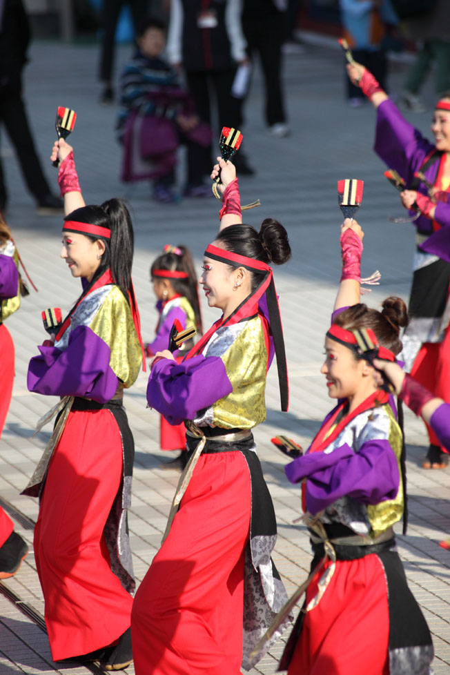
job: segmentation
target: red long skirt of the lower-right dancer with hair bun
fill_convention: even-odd
[[[306,604],[322,573],[306,591]],[[337,561],[319,604],[306,612],[288,675],[388,675],[388,644],[387,581],[380,558]]]

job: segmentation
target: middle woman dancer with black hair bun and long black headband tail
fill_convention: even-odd
[[[221,227],[199,283],[222,316],[182,363],[157,353],[148,380],[148,404],[171,424],[184,421],[190,459],[133,604],[137,675],[238,675],[286,600],[271,560],[275,513],[252,429],[266,418],[274,352],[287,409],[269,264],[286,262],[291,248],[277,221],[266,219],[259,232],[242,224],[235,168],[220,159],[213,178],[219,170]]]

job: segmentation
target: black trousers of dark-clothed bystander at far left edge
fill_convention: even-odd
[[[50,194],[50,186],[37,156],[20,88],[0,89],[0,122],[14,146],[26,186],[36,201],[40,202]],[[0,206],[4,207],[6,201],[5,177],[0,162]]]

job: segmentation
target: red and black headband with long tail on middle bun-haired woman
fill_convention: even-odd
[[[213,244],[207,246],[204,253],[206,257],[233,267],[244,267],[248,271],[264,275],[260,284],[258,284],[255,291],[249,295],[245,302],[239,306],[237,315],[234,315],[234,320],[246,316],[246,310],[249,306],[254,305],[260,300],[264,293],[266,294],[268,317],[271,326],[271,333],[273,337],[273,346],[275,347],[275,355],[277,357],[278,381],[280,382],[280,398],[282,411],[286,412],[289,404],[289,388],[288,388],[288,371],[286,365],[286,350],[284,348],[284,337],[282,322],[280,317],[280,307],[278,306],[277,292],[275,291],[275,282],[273,281],[272,268],[265,262],[254,260],[246,255],[239,255],[227,251],[224,248],[219,248]],[[226,322],[225,322],[226,323]]]

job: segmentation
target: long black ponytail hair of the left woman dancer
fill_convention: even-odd
[[[108,269],[113,281],[128,300],[131,288],[131,267],[133,265],[134,233],[130,213],[123,199],[108,199],[101,206],[81,206],[75,209],[64,220],[75,220],[81,223],[106,227],[111,231],[110,239],[102,239],[106,244],[99,268],[95,272],[88,288]],[[92,242],[101,237],[86,235]],[[88,290],[85,289],[85,293]]]

